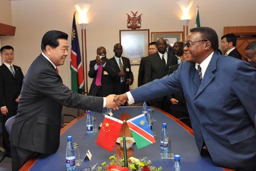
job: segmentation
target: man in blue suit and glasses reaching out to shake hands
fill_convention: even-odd
[[[182,89],[199,151],[207,149],[217,165],[255,170],[256,70],[247,62],[220,55],[218,46],[215,30],[191,29],[184,44],[186,61],[178,70],[114,101],[138,103]]]

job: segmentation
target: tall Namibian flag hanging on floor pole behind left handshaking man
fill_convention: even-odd
[[[71,41],[71,89],[74,92],[82,93],[84,91],[84,79],[83,79],[83,69],[82,61],[80,55],[80,47],[78,41],[78,34],[76,29],[76,19],[75,14],[73,17],[72,26],[72,41]]]

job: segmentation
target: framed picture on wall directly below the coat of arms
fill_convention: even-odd
[[[150,30],[120,30],[119,34],[122,56],[129,58],[131,65],[139,65],[141,58],[148,56]]]

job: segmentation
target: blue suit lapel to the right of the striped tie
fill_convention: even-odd
[[[213,72],[216,70],[217,60],[219,56],[218,53],[214,53],[212,56],[210,63],[205,71],[204,78],[199,86],[196,97],[210,84],[210,82],[215,78]]]

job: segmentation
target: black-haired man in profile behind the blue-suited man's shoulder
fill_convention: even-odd
[[[237,37],[232,33],[228,33],[221,37],[222,50],[226,52],[226,56],[231,56],[242,60],[241,54],[236,49]]]

